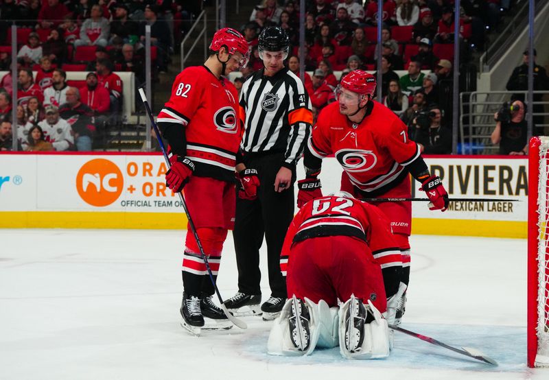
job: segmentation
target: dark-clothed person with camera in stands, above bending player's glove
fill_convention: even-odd
[[[452,131],[442,125],[442,112],[439,106],[432,104],[428,110],[416,112],[412,120],[415,127],[410,135],[423,154],[451,154]]]

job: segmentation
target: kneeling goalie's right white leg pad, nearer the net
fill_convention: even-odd
[[[366,323],[372,316],[373,320]],[[341,355],[347,359],[388,357],[388,324],[371,300],[368,300],[368,305],[362,305],[351,296],[342,305],[339,311],[339,346]]]

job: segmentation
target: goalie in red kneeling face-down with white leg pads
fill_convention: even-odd
[[[272,327],[269,353],[307,355],[317,343],[339,341],[344,357],[388,355],[381,313],[399,291],[402,263],[382,211],[343,191],[307,202],[290,224],[280,266],[288,301]],[[393,323],[395,311],[388,314]]]

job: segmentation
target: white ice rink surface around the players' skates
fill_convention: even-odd
[[[179,325],[185,232],[0,230],[0,379],[549,379],[526,367],[526,241],[412,236],[402,326],[471,346],[492,367],[396,333],[387,359],[266,354],[270,322]],[[261,285],[268,297],[265,257]],[[233,240],[218,286],[237,290]]]

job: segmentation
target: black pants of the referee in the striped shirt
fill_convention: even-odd
[[[238,268],[238,291],[244,294],[261,294],[261,272],[259,271],[259,248],[263,237],[267,242],[267,263],[271,296],[286,298],[286,282],[280,272],[280,252],[288,227],[294,217],[294,181],[289,189],[274,191],[283,154],[266,154],[246,159],[246,168],[256,169],[259,177],[257,199],[236,200],[235,241]]]

